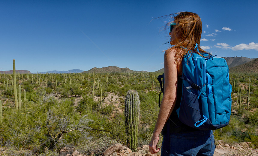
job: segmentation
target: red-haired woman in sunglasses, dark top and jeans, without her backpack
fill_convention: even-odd
[[[149,151],[157,153],[159,135],[164,135],[161,155],[213,155],[214,137],[212,131],[202,131],[179,121],[175,107],[180,105],[182,94],[182,58],[189,50],[202,56],[200,39],[202,22],[196,13],[181,12],[170,22],[170,44],[173,47],[164,55],[164,95],[157,123],[149,143]],[[198,44],[199,52],[194,49]]]

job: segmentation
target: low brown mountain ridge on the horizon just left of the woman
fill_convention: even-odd
[[[94,69],[96,73],[110,73],[110,72],[147,72],[147,71],[137,71],[137,70],[131,70],[129,68],[119,68],[116,66],[109,66],[109,67],[102,67],[102,68],[91,68],[88,71],[84,71],[82,73],[93,73]]]

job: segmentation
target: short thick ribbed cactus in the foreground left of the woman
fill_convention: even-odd
[[[125,131],[127,144],[132,151],[137,150],[140,116],[140,99],[136,90],[129,90],[125,98]]]

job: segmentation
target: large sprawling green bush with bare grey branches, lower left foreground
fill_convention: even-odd
[[[5,110],[5,124],[0,128],[2,145],[42,153],[46,148],[58,151],[69,142],[76,145],[78,140],[73,139],[76,136],[87,139],[92,120],[74,112],[71,101],[45,96],[38,103],[26,101],[26,106],[26,109]]]

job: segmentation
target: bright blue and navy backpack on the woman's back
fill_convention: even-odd
[[[194,49],[199,52],[197,44]],[[182,60],[182,98],[176,112],[179,120],[190,127],[214,130],[229,124],[232,88],[226,60],[209,53],[203,56],[188,51]],[[164,74],[158,80],[163,92],[162,77]]]

